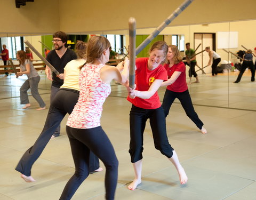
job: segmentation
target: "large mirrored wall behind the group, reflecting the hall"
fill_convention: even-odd
[[[256,83],[251,82],[251,70],[246,69],[241,81],[239,83],[234,83],[239,74],[239,68],[241,68],[242,65],[240,59],[236,57],[237,52],[247,51],[248,49],[251,49],[252,51],[254,50],[256,42],[253,38],[253,28],[255,26],[256,20],[167,27],[156,39],[163,39],[167,44],[178,45],[183,57],[185,57],[186,51],[185,44],[188,42],[190,43],[190,47],[198,53],[196,55],[196,73],[199,78],[199,83],[193,83],[196,81],[194,76],[191,77],[190,81],[188,76],[189,66],[186,66],[187,83],[194,105],[256,110]],[[137,46],[154,30],[155,28],[137,29]],[[126,57],[129,49],[129,36],[127,30],[79,33],[79,35],[87,35],[81,36],[81,38],[76,37],[75,34],[70,34],[70,41],[71,43],[75,43],[78,39],[84,40],[85,37],[88,39],[91,35],[96,34],[104,35],[109,39],[111,46],[113,46],[112,50],[117,53],[116,59]],[[5,43],[7,49],[9,48],[9,51],[10,49],[13,49],[13,53],[10,55],[13,58],[14,64],[18,64],[14,54],[20,50],[19,48],[22,48],[22,45],[15,45],[15,43],[19,43],[19,37],[27,39],[37,50],[40,50],[42,54],[46,47],[52,49],[52,44],[49,43],[51,39],[47,38],[52,37],[51,35],[26,36],[15,34],[13,36],[2,34],[1,46]],[[215,51],[221,57],[217,76],[212,76],[211,65],[207,66],[210,57],[209,53],[204,51],[206,46],[210,46],[210,49]],[[146,47],[138,57],[146,57],[148,49],[149,46]],[[35,54],[33,55],[33,63],[42,63]],[[255,63],[254,57],[253,63]],[[3,67],[2,60],[0,60],[0,65]],[[38,70],[38,74],[41,76],[39,91],[41,93],[49,92],[51,82],[45,77],[44,70]],[[18,97],[19,87],[26,78],[27,77],[25,76],[15,78],[13,73],[8,77],[4,77],[4,74],[1,74],[0,99]],[[113,95],[118,95],[120,97],[126,96],[126,91],[122,86],[113,84],[112,91]],[[164,88],[161,88],[158,91],[161,98],[163,98],[164,91]],[[179,101],[175,102],[179,103]]]

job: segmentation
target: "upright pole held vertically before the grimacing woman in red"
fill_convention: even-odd
[[[136,20],[135,18],[129,19],[129,60],[130,60],[130,69],[129,69],[129,86],[132,89],[135,85],[135,52],[136,52]]]

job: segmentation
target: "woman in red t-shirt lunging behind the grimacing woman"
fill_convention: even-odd
[[[164,68],[167,70],[169,79],[161,85],[167,86],[163,99],[165,116],[169,114],[173,101],[178,98],[187,116],[196,124],[203,134],[207,133],[206,129],[203,127],[204,123],[199,119],[193,107],[186,83],[186,67],[182,62],[177,46],[168,46],[166,58],[168,62],[164,64]]]

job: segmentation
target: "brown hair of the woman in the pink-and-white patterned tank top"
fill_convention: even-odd
[[[90,37],[87,44],[86,51],[86,62],[93,63],[95,59],[100,58],[103,51],[110,47],[110,43],[106,37],[103,36],[92,36]],[[82,66],[80,67],[80,69]]]

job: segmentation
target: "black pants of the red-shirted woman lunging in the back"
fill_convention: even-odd
[[[185,110],[187,116],[196,124],[198,129],[201,130],[204,123],[199,119],[198,115],[195,112],[188,90],[186,90],[185,92],[173,92],[170,90],[165,91],[163,99],[163,109],[165,116],[169,114],[172,103],[176,98],[180,100],[181,105]]]

